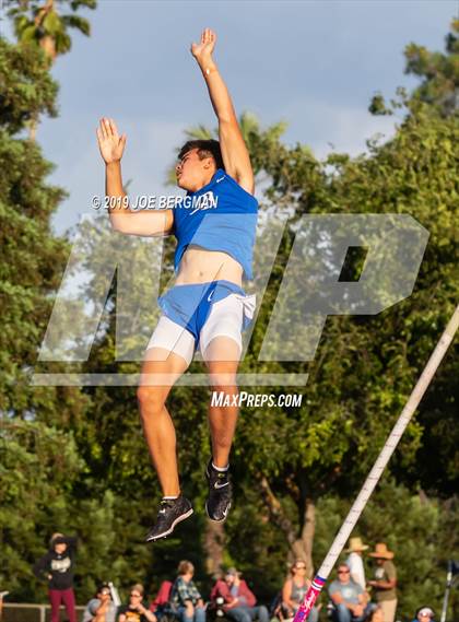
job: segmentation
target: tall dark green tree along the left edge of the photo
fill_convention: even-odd
[[[57,85],[42,55],[4,39],[0,82],[0,578],[30,597],[30,564],[56,530],[54,520],[69,512],[84,467],[68,429],[86,399],[75,389],[31,385],[68,246],[50,228],[64,191],[47,183],[52,165],[20,132],[35,114],[56,114]]]

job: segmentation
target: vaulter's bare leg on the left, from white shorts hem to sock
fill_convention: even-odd
[[[143,432],[164,496],[180,494],[175,429],[165,402],[175,382],[188,366],[189,362],[175,352],[150,348],[145,353],[138,389]],[[158,374],[165,375],[165,384],[149,384]]]

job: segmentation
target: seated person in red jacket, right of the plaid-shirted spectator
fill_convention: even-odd
[[[236,568],[228,568],[225,578],[219,579],[212,588],[211,600],[216,602],[221,597],[224,600],[222,607],[225,615],[236,622],[268,622],[268,609],[261,605],[256,607],[257,599],[244,579],[240,579]]]

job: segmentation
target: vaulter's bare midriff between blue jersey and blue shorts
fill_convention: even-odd
[[[195,244],[188,245],[180,260],[175,284],[208,283],[220,279],[242,286],[243,267],[227,253],[208,250]]]

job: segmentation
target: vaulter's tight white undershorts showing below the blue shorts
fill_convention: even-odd
[[[205,359],[205,349],[214,337],[229,337],[236,341],[240,352],[243,351],[243,320],[245,307],[255,308],[255,294],[242,296],[229,294],[223,300],[213,303],[208,319],[199,333],[199,350]],[[178,354],[189,365],[196,350],[196,340],[190,331],[176,324],[164,314],[160,317],[155,330],[149,341],[146,350],[151,348],[164,348]]]

